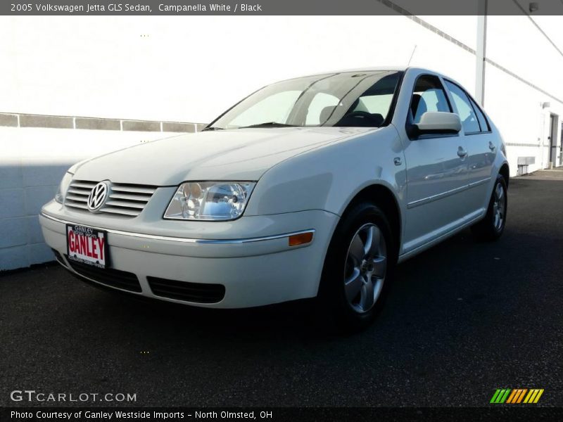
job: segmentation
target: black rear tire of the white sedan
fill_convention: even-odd
[[[502,198],[498,198],[498,190],[502,190]],[[500,206],[503,209],[500,210]],[[498,223],[498,212],[500,210],[500,224]],[[491,199],[488,203],[487,213],[485,217],[477,224],[472,226],[472,234],[477,241],[496,241],[502,232],[505,231],[506,217],[508,211],[508,188],[506,180],[501,174],[497,176]]]

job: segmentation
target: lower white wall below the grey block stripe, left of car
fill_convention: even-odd
[[[37,215],[70,165],[166,132],[0,127],[0,270],[53,260]]]

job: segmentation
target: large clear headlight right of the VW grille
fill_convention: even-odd
[[[191,181],[181,184],[164,218],[236,219],[242,215],[255,185],[251,181]]]

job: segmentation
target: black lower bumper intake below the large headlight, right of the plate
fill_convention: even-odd
[[[147,277],[146,279],[153,293],[163,298],[197,303],[216,303],[224,298],[222,284],[188,283],[157,277]]]

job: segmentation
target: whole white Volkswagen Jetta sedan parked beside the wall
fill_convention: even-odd
[[[419,68],[264,87],[197,134],[70,167],[39,216],[73,274],[201,307],[315,298],[361,328],[398,262],[505,227],[509,167],[460,84]]]

